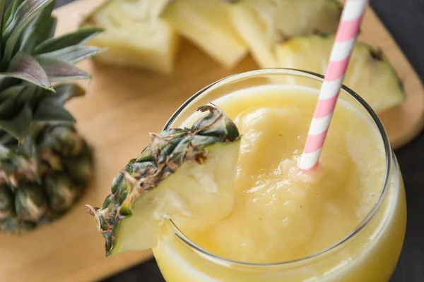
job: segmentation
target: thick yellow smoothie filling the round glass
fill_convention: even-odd
[[[299,171],[317,96],[306,87],[268,85],[213,102],[242,134],[235,204],[227,217],[200,233],[182,230],[203,251],[183,243],[172,223],[165,224],[153,251],[167,282],[389,280],[406,225],[396,161],[370,223],[317,255],[353,233],[372,212],[387,161],[375,124],[341,100],[318,168]],[[305,259],[309,256],[314,257]]]

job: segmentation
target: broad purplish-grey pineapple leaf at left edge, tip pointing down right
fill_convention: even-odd
[[[35,85],[54,91],[49,82],[49,78],[40,63],[32,56],[23,52],[18,52],[9,63],[6,73],[1,76],[9,76],[33,82]]]

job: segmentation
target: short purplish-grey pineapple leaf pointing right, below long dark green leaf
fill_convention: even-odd
[[[38,58],[38,62],[51,82],[90,78],[88,73],[66,61],[55,58]]]

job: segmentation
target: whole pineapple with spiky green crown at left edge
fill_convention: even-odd
[[[90,78],[74,63],[98,28],[54,38],[54,0],[0,0],[0,231],[23,233],[69,210],[91,174],[90,147],[64,104]],[[62,83],[61,83],[62,82]],[[54,83],[54,85],[52,85]]]

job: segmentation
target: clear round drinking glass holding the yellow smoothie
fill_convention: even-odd
[[[165,129],[181,125],[198,106],[225,94],[261,85],[300,85],[319,89],[323,77],[293,69],[263,69],[223,78],[204,87],[177,109]],[[172,220],[153,249],[167,282],[389,281],[399,259],[406,230],[406,199],[401,172],[377,114],[355,92],[343,86],[339,99],[360,111],[381,137],[385,178],[371,212],[346,238],[317,253],[272,264],[236,262],[202,249]],[[219,208],[219,207],[217,207]]]

